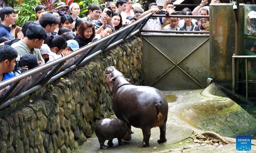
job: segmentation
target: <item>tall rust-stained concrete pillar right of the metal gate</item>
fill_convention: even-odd
[[[239,9],[238,55],[244,55],[244,4],[240,4]],[[232,56],[236,43],[235,11],[229,3],[221,3],[210,4],[210,13],[210,77],[232,87]]]

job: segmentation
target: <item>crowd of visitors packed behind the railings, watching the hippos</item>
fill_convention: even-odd
[[[221,0],[212,0],[211,3],[221,3]],[[202,0],[193,11],[184,8],[181,14],[209,15],[209,7],[204,7],[205,4],[207,0]],[[178,15],[172,0],[166,0],[162,10],[156,3],[151,3],[148,11],[144,11],[139,3],[132,4],[132,0],[108,2],[103,8],[90,4],[88,15],[84,18],[79,18],[77,3],[68,6],[60,2],[52,11],[38,5],[35,9],[36,21],[28,21],[21,28],[15,24],[16,15],[12,7],[0,9],[0,82],[76,51],[149,12]],[[209,25],[209,18],[197,21],[188,17],[152,17],[143,29],[209,31],[206,25]]]

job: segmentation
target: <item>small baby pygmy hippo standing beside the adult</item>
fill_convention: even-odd
[[[108,145],[113,146],[113,139],[117,138],[118,144],[122,145],[122,139],[129,141],[132,139],[131,131],[126,124],[117,118],[107,118],[100,120],[95,126],[95,134],[99,139],[100,148],[106,149],[104,142],[108,140]]]

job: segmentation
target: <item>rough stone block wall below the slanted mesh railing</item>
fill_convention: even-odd
[[[142,85],[142,42],[133,36],[75,71],[20,99],[0,119],[0,152],[67,153],[94,133],[102,118],[114,114],[104,70],[115,66]],[[3,111],[3,110],[1,110]]]

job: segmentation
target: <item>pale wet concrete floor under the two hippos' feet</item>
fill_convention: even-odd
[[[199,101],[203,97],[200,93],[203,90],[186,90],[186,91],[162,91],[165,95],[167,101],[169,102],[169,110],[172,109],[173,105],[180,104],[186,101]],[[170,111],[169,111],[170,112]],[[139,128],[132,127],[134,134],[132,134],[132,139],[124,144],[118,145],[117,139],[113,140],[114,146],[107,149],[100,149],[100,144],[95,133],[91,138],[87,139],[87,142],[84,142],[83,145],[79,146],[79,149],[76,149],[74,153],[233,153],[236,152],[236,144],[225,145],[222,147],[206,146],[202,147],[198,143],[192,143],[190,135],[193,133],[193,128],[184,126],[184,123],[176,122],[172,120],[171,114],[168,113],[168,120],[166,123],[166,139],[167,142],[157,143],[157,140],[160,136],[159,128],[151,129],[151,137],[149,140],[149,147],[140,148],[138,145],[142,143],[143,135],[142,131]],[[123,140],[124,141],[124,140]],[[105,145],[107,145],[105,142]],[[256,152],[256,147],[252,146],[250,152]],[[243,151],[241,151],[242,153]],[[244,153],[244,152],[243,152]]]

